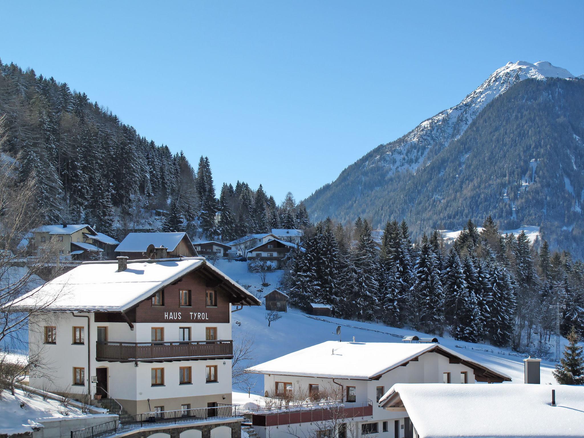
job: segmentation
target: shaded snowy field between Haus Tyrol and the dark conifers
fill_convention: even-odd
[[[228,263],[227,260],[218,260],[215,266],[223,270],[233,280],[244,284],[246,287],[251,286],[249,291],[252,293],[256,293],[261,288],[259,277],[256,274],[247,272],[245,262]],[[262,293],[259,293],[258,296],[277,288],[281,274],[281,271],[269,273],[267,281],[271,284],[269,287],[263,288]],[[325,340],[338,340],[339,336],[335,334],[337,325],[341,326],[342,340],[352,340],[354,336],[359,342],[401,343],[401,339],[404,336],[424,335],[424,333],[392,328],[382,324],[325,317],[314,319],[310,315],[291,308],[288,308],[287,313],[282,313],[282,318],[272,322],[272,325],[268,328],[265,314],[266,311],[263,306],[244,307],[243,310],[232,314],[234,323],[235,321],[241,322],[241,325],[233,324],[234,338],[248,334],[255,337],[255,351],[253,352],[255,363],[253,364],[262,363]],[[460,342],[450,337],[438,339],[442,345],[507,374],[512,378],[512,383],[523,383],[523,357],[509,356],[508,353],[511,350],[498,349],[491,345]],[[477,349],[488,349],[489,352]],[[499,354],[499,352],[504,354]],[[541,361],[542,384],[555,383],[551,373],[553,369],[553,363]],[[263,391],[261,378],[261,376],[258,376],[255,388],[252,390],[256,394],[260,394]],[[234,390],[237,391],[237,388],[234,388]],[[234,395],[234,397],[241,398],[241,395]]]

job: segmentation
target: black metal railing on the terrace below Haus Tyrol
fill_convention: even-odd
[[[200,422],[239,416],[238,405],[217,404],[213,408],[184,409],[180,411],[146,412],[85,429],[72,430],[71,438],[103,438],[128,432],[144,426]]]

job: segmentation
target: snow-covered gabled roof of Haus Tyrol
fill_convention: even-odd
[[[117,267],[117,260],[84,262],[18,298],[13,308],[124,311],[192,270],[203,267],[225,279],[224,284],[238,300],[261,304],[258,298],[201,257],[128,260],[126,270],[118,272]]]

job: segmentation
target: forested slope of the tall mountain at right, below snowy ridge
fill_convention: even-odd
[[[412,142],[439,114],[369,152],[304,201],[311,218],[405,218],[420,232],[492,215],[502,229],[541,225],[553,246],[582,255],[584,81],[537,79],[499,92],[458,137],[460,118]]]

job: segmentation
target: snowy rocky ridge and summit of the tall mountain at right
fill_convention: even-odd
[[[574,79],[574,76],[566,69],[555,67],[547,61],[535,64],[525,61],[508,62],[496,69],[458,105],[423,121],[405,137],[386,145],[385,150],[378,151],[379,154],[371,157],[364,165],[381,161],[390,168],[390,174],[405,169],[415,172],[422,162],[427,164],[431,161],[429,157],[426,159],[431,148],[437,148],[432,151],[432,156],[436,155],[450,141],[464,133],[487,103],[506,92],[512,85],[528,78]]]

